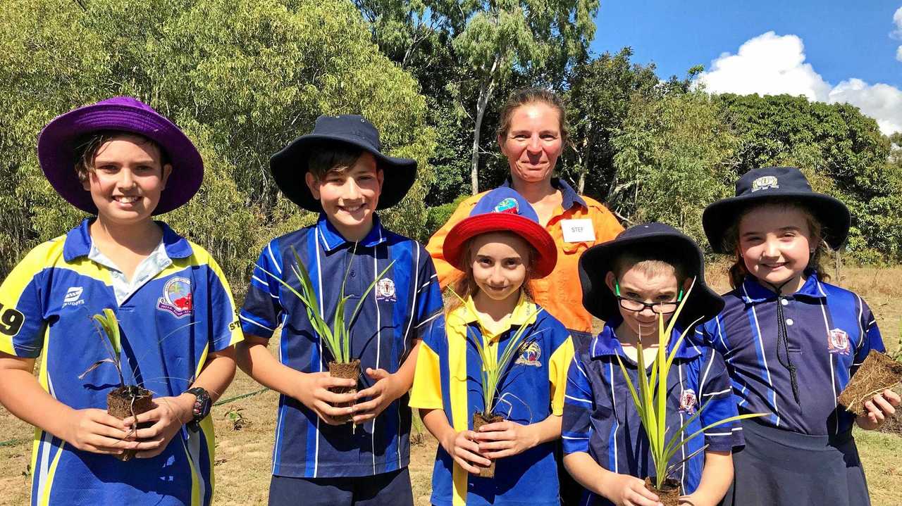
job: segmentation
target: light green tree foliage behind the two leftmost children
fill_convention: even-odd
[[[0,211],[10,267],[79,213],[41,176],[35,140],[55,115],[133,95],[177,122],[206,164],[200,193],[164,216],[233,279],[249,253],[312,218],[281,198],[268,159],[319,114],[363,113],[391,154],[417,158],[410,198],[384,220],[419,233],[434,131],[417,82],[373,47],[341,0],[62,0],[0,4]]]

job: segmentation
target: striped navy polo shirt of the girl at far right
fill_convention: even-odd
[[[698,329],[723,354],[741,412],[769,412],[756,419],[778,429],[828,436],[851,429],[855,416],[837,405],[871,349],[884,351],[877,321],[860,296],[818,281],[808,272],[795,294],[779,296],[746,276],[723,295],[723,312]],[[799,402],[792,392],[786,349],[778,351],[782,306],[788,352],[797,366]]]

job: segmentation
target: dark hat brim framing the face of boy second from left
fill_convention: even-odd
[[[318,143],[335,141],[350,144],[364,149],[376,159],[376,167],[382,168],[385,177],[382,180],[382,192],[376,209],[388,209],[399,203],[410,191],[417,179],[417,160],[412,158],[394,158],[383,155],[370,148],[363,141],[357,142],[344,136],[308,134],[292,140],[285,148],[270,158],[270,170],[276,185],[288,199],[300,207],[313,212],[322,212],[323,206],[313,197],[307,186],[305,177],[309,170],[308,159]],[[391,168],[391,172],[386,171]]]

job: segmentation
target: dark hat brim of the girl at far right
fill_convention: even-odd
[[[813,192],[769,192],[767,194],[746,194],[725,198],[709,204],[702,213],[704,235],[715,253],[733,253],[724,248],[726,231],[739,219],[741,212],[756,203],[769,200],[787,200],[796,202],[815,215],[824,227],[824,241],[833,249],[842,248],[849,236],[851,214],[839,199],[827,194]]]

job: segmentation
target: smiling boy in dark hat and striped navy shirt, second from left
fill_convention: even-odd
[[[312,133],[272,156],[270,167],[282,193],[319,217],[262,249],[240,313],[247,340],[239,366],[281,393],[269,503],[412,504],[407,392],[420,340],[442,331],[442,300],[426,250],[382,226],[376,211],[407,194],[417,163],[384,155],[371,122],[341,115],[320,116]],[[334,357],[306,306],[273,277],[301,290],[292,274],[295,253],[325,321],[334,321],[340,297],[352,297],[345,320],[350,357],[364,371],[359,392],[330,391],[358,380],[329,375]],[[266,345],[280,326],[276,359]]]

